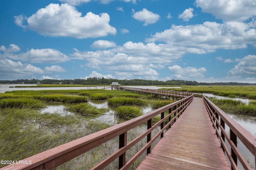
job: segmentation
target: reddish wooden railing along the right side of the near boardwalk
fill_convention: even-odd
[[[203,100],[208,114],[210,115],[210,119],[213,122],[214,129],[216,130],[216,135],[220,139],[222,149],[226,152],[228,159],[230,160],[232,169],[238,169],[238,158],[245,170],[251,170],[252,168],[237,148],[237,138],[240,139],[243,145],[254,155],[256,164],[256,137],[246,131],[246,129],[244,129],[236,121],[230,118],[226,113],[224,113],[224,111],[213,104],[208,98],[203,96]],[[229,136],[225,131],[225,125],[230,128]],[[231,153],[225,144],[225,140],[227,140],[231,147]]]

